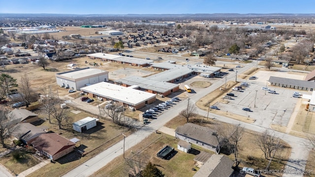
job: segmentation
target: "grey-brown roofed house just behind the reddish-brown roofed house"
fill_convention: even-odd
[[[48,127],[35,126],[31,123],[18,123],[13,129],[12,136],[21,140],[25,145],[30,145],[35,138],[46,133]]]

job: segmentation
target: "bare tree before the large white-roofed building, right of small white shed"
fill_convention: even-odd
[[[104,108],[103,109],[104,114],[111,118],[114,123],[121,125],[122,122],[125,123],[124,119],[124,107],[118,105],[118,104],[113,104],[111,107],[108,109]]]

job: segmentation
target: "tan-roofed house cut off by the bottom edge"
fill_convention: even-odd
[[[226,155],[213,154],[193,177],[230,177],[233,164]]]

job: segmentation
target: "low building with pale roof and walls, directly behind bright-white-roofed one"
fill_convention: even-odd
[[[138,86],[140,90],[147,91],[154,94],[162,94],[167,96],[172,92],[179,90],[178,84],[168,82],[156,81],[139,76],[130,76],[115,81],[116,84],[122,84],[124,87]]]

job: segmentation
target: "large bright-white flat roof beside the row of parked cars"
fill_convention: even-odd
[[[126,88],[107,82],[101,82],[91,86],[87,86],[81,88],[81,90],[133,106],[156,97],[156,95],[153,93]]]

